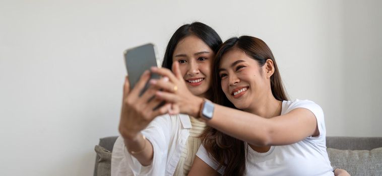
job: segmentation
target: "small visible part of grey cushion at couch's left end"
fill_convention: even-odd
[[[97,153],[95,166],[97,176],[109,176],[111,174],[111,152],[99,145],[96,145],[94,150]]]

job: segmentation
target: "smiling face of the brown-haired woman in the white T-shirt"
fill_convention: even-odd
[[[237,48],[225,53],[220,61],[221,87],[230,102],[241,110],[253,108],[257,101],[267,98],[270,80],[266,69]]]

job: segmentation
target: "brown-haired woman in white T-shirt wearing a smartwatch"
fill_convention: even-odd
[[[152,71],[170,79],[155,83],[164,90],[157,98],[209,126],[189,175],[334,175],[321,107],[288,101],[264,41],[241,36],[223,43],[212,69],[214,103],[190,94],[178,67],[173,64],[175,75]]]

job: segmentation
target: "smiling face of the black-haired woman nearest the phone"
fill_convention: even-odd
[[[214,51],[195,35],[180,40],[173,53],[173,62],[179,62],[179,69],[188,90],[196,96],[206,97],[210,89],[211,63]]]

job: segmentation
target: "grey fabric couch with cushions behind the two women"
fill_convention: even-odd
[[[110,175],[116,138],[101,138],[96,145],[94,176]],[[382,137],[327,137],[327,150],[332,165],[344,168],[351,175],[382,175]]]

